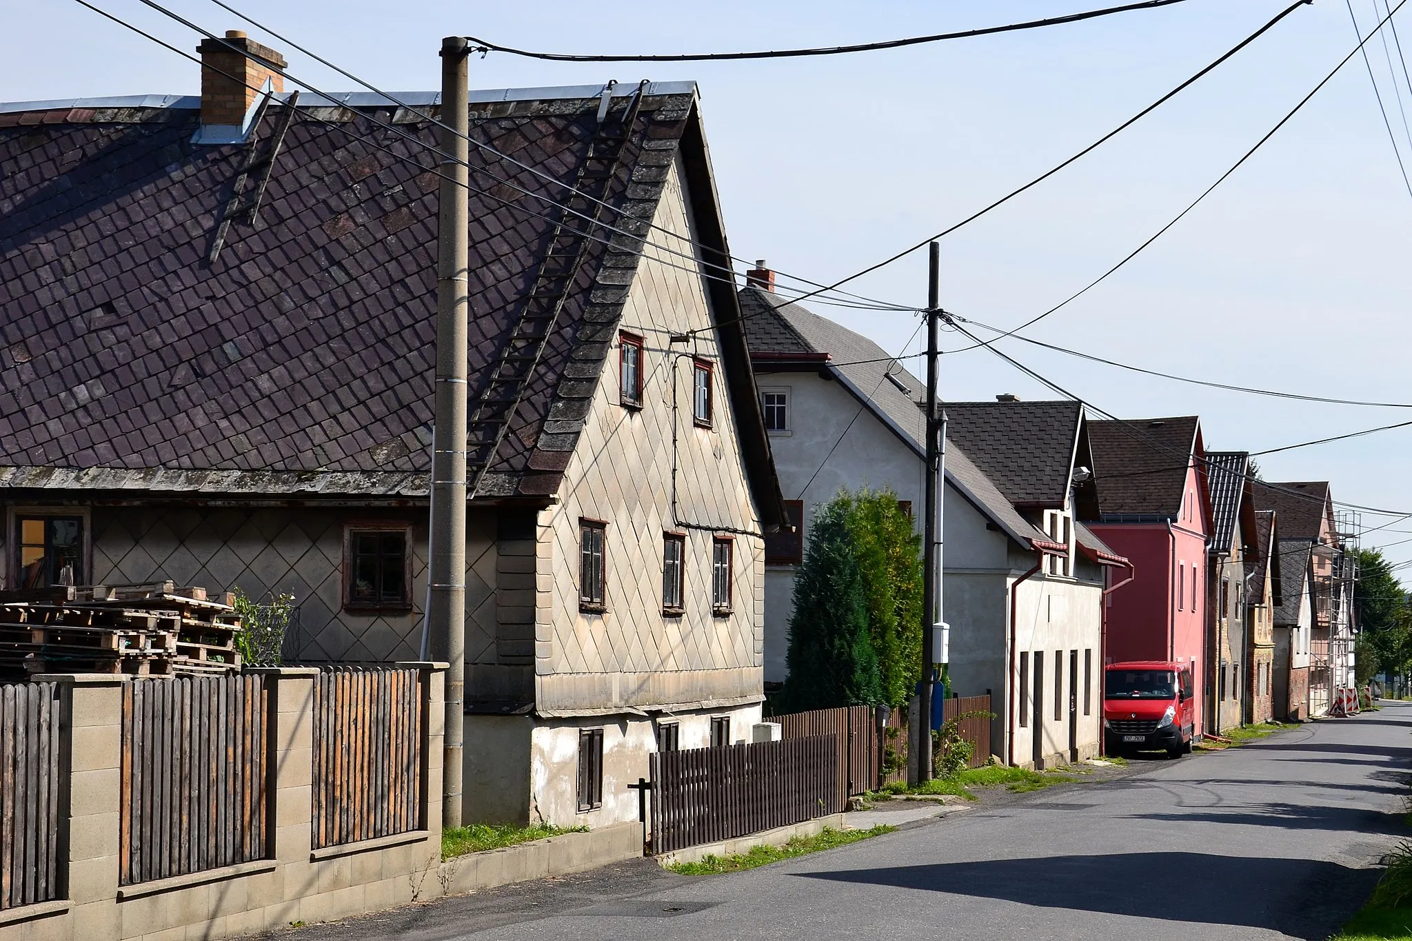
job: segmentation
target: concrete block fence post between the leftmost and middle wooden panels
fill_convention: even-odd
[[[68,786],[61,793],[61,870],[72,907],[72,937],[117,941],[119,852],[123,794],[123,686],[126,676],[42,673],[35,683],[62,688]],[[66,844],[68,849],[64,851]]]

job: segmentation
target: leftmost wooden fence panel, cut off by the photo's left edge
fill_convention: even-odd
[[[0,909],[59,897],[59,728],[54,683],[0,686]]]

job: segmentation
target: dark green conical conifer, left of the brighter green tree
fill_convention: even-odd
[[[809,525],[789,618],[789,679],[779,696],[786,711],[882,701],[849,511],[850,501],[840,495],[820,506]]]

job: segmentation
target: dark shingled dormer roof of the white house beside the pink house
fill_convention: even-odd
[[[964,447],[1011,502],[1066,504],[1082,402],[947,402],[946,419],[947,446]]]

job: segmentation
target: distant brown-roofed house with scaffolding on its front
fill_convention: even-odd
[[[1310,617],[1308,621],[1308,704],[1300,717],[1329,712],[1333,698],[1341,690],[1351,690],[1353,677],[1353,584],[1356,559],[1344,552],[1333,509],[1333,495],[1327,481],[1291,481],[1257,484],[1257,499],[1262,508],[1274,509],[1279,519],[1281,552],[1289,552],[1292,564],[1306,563]],[[1288,545],[1286,545],[1288,543]],[[1302,547],[1308,547],[1305,553]],[[1308,557],[1306,557],[1308,556]],[[1296,577],[1289,570],[1285,588],[1292,591]],[[1305,593],[1300,593],[1305,594]],[[1291,598],[1291,605],[1295,600]],[[1302,604],[1302,601],[1300,601]],[[1305,624],[1299,608],[1289,607],[1284,624],[1298,631]],[[1281,622],[1276,621],[1276,626]],[[1295,641],[1303,638],[1292,638]],[[1292,660],[1291,672],[1299,669]],[[1289,681],[1291,696],[1298,696],[1302,677]],[[1295,710],[1291,701],[1291,710]]]

